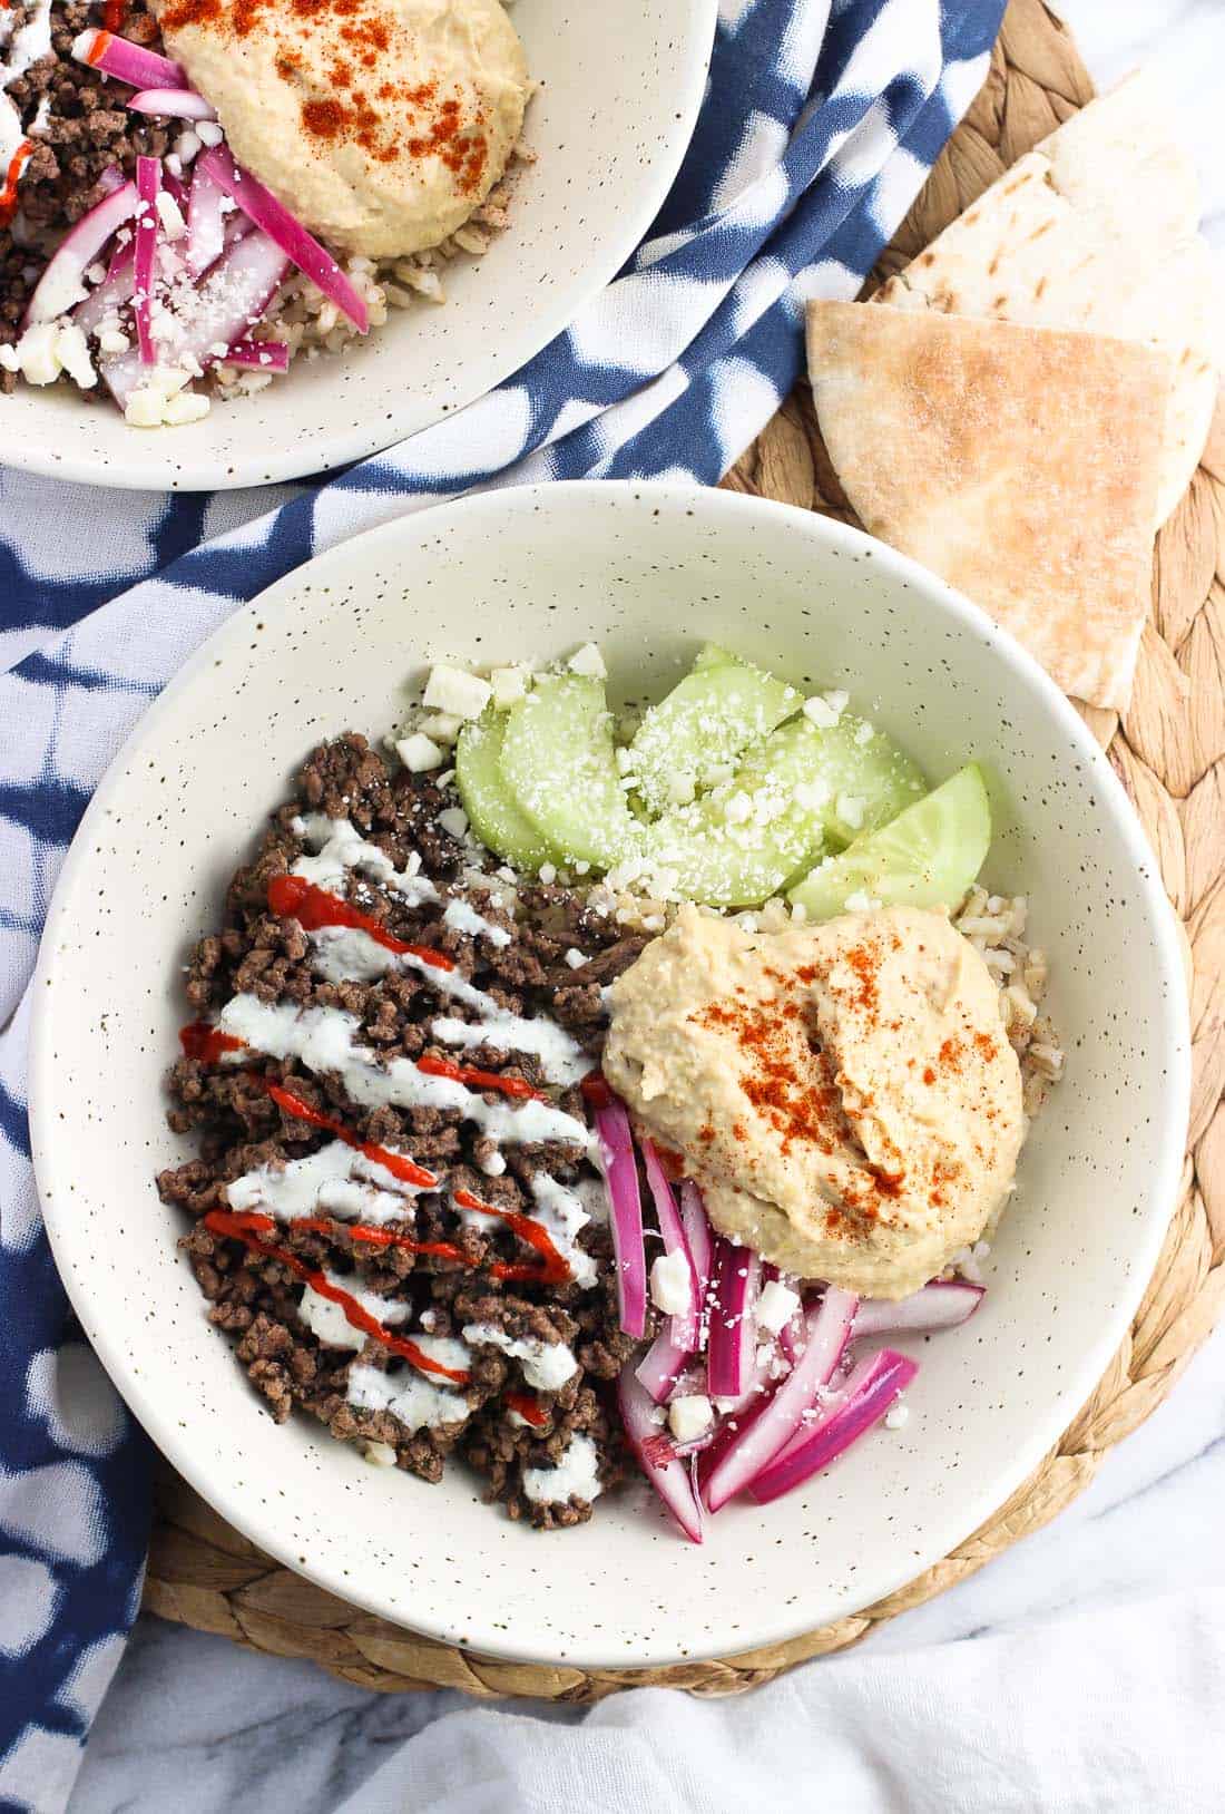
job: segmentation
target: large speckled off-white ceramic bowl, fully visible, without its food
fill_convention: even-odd
[[[614,693],[661,693],[716,637],[844,686],[931,776],[977,756],[986,880],[1033,900],[1067,1078],[964,1330],[919,1342],[912,1417],[703,1547],[641,1484],[542,1536],[274,1429],[176,1255],[152,1174],[185,1019],[179,965],[315,738],[381,733],[433,657],[551,658],[585,639]],[[790,1638],[899,1587],[988,1517],[1109,1362],[1165,1232],[1187,1123],[1172,914],[1107,762],[1051,682],[946,586],[854,530],[672,486],[500,492],[335,548],[239,611],[140,724],[85,816],[43,941],[33,1132],[87,1335],[170,1460],[257,1544],[346,1600],[477,1651],[663,1663]]]

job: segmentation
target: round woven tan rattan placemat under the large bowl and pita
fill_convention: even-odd
[[[1091,98],[1067,31],[1040,0],[1011,0],[991,74],[881,261],[908,263],[1022,152]],[[854,521],[799,386],[725,484]],[[1183,1186],[1129,1337],[1062,1440],[993,1518],[888,1600],[790,1643],[670,1669],[549,1669],[449,1649],[359,1613],[239,1536],[163,1471],[145,1605],[248,1649],[308,1656],[370,1689],[598,1700],[667,1683],[727,1694],[839,1651],[930,1600],[1038,1529],[1084,1491],[1104,1455],[1162,1402],[1216,1321],[1225,1290],[1225,408],[1187,497],[1162,530],[1153,619],[1131,709],[1085,711],[1158,854],[1185,925],[1194,1090]]]

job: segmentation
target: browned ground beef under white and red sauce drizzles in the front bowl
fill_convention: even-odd
[[[440,1014],[471,1021],[477,1010],[440,996],[428,974],[395,967],[370,981],[328,981],[317,974],[315,947],[297,920],[268,909],[268,883],[308,849],[304,816],[344,818],[397,871],[410,869],[417,853],[440,900],[413,905],[402,892],[355,871],[346,873],[335,892],[342,889],[352,907],[397,940],[446,954],[460,976],[500,1007],[527,1018],[551,1014],[596,1048],[600,989],[634,960],[643,941],[622,936],[620,927],[591,914],[565,889],[522,889],[515,898],[491,869],[495,860],[466,849],[440,824],[439,814],[455,804],[428,776],[391,771],[362,736],[341,736],[315,749],[303,766],[295,796],[274,813],[252,862],[234,874],[221,927],[192,951],[185,978],[190,1016],[207,1021],[239,992],[266,1003],[342,1009],[361,1023],[361,1043],[382,1059],[458,1056],[466,1065],[544,1090],[556,1107],[585,1121],[582,1090],[545,1085],[536,1058],[498,1048],[493,1039],[460,1054],[439,1041],[431,1023]],[[484,873],[475,871],[482,860]],[[444,911],[453,898],[473,905],[509,941],[495,943],[484,932],[471,936],[448,925]],[[576,949],[587,960],[582,969],[567,961]],[[446,1188],[426,1190],[404,1221],[388,1226],[411,1235],[413,1244],[444,1244],[448,1252],[371,1244],[337,1219],[321,1228],[283,1223],[266,1232],[261,1239],[279,1257],[214,1232],[205,1217],[228,1208],[227,1186],[234,1179],[261,1166],[281,1168],[335,1137],[279,1108],[268,1094],[270,1083],[285,1085],[308,1110],[339,1121],[352,1139],[410,1152],[417,1163],[446,1174]],[[487,1092],[486,1099],[507,1097]],[[582,1500],[529,1500],[522,1475],[524,1468],[556,1466],[576,1433],[596,1444],[603,1484],[611,1486],[622,1471],[612,1386],[632,1344],[618,1328],[607,1226],[593,1217],[578,1237],[594,1261],[593,1284],[580,1286],[574,1279],[544,1284],[498,1272],[522,1270],[533,1261],[506,1221],[464,1219],[451,1201],[453,1192],[468,1190],[502,1212],[535,1214],[533,1179],[544,1170],[565,1186],[585,1181],[591,1190],[598,1174],[585,1141],[507,1143],[506,1170],[491,1175],[486,1166],[495,1143],[464,1121],[458,1108],[361,1105],[346,1096],[341,1076],[317,1076],[297,1061],[259,1054],[241,1065],[179,1058],[170,1072],[170,1125],[194,1136],[198,1156],[163,1172],[158,1186],[165,1203],[194,1217],[181,1244],[208,1301],[208,1317],[236,1339],[236,1355],[275,1422],[297,1408],[344,1442],[386,1444],[386,1451],[375,1453],[393,1451],[397,1466],[424,1480],[439,1480],[446,1457],[458,1451],[484,1477],[487,1497],[504,1502],[515,1518],[560,1527],[591,1517]],[[364,1293],[408,1304],[406,1319],[390,1324],[395,1335],[460,1337],[469,1322],[491,1324],[509,1341],[565,1342],[576,1371],[560,1390],[536,1391],[526,1386],[518,1359],[497,1344],[475,1346],[462,1386],[433,1380],[462,1393],[466,1417],[410,1429],[391,1411],[352,1404],[348,1377],[355,1362],[399,1375],[411,1370],[411,1360],[377,1337],[353,1353],[312,1333],[299,1312],[303,1268],[326,1272],[342,1286],[352,1279]],[[522,1420],[524,1404],[538,1422]]]

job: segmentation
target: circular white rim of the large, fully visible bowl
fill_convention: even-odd
[[[415,539],[422,533],[429,533],[433,537],[437,535],[439,526],[446,528],[457,519],[468,519],[468,530],[480,533],[482,519],[497,519],[507,510],[524,512],[527,515],[535,513],[536,522],[540,522],[542,517],[547,515],[549,506],[560,508],[562,515],[565,515],[567,499],[576,495],[598,499],[612,510],[620,508],[620,504],[629,497],[641,502],[643,499],[654,501],[667,495],[672,502],[683,506],[690,515],[707,513],[709,522],[738,515],[763,519],[767,524],[774,524],[779,533],[790,533],[794,530],[806,535],[814,544],[825,544],[825,548],[839,553],[859,557],[866,555],[877,568],[883,568],[899,580],[906,582],[913,593],[917,610],[930,610],[935,606],[937,611],[944,611],[946,617],[960,629],[971,629],[980,640],[986,640],[991,655],[1000,660],[1004,671],[1017,673],[1024,682],[1037,689],[1040,704],[1053,715],[1056,727],[1064,731],[1069,742],[1069,756],[1076,756],[1093,773],[1100,785],[1102,804],[1109,811],[1122,836],[1127,860],[1153,925],[1153,961],[1158,965],[1167,985],[1165,1000],[1169,1003],[1174,1027],[1169,1048],[1163,1054],[1167,1083],[1163,1097],[1160,1099],[1160,1130],[1154,1136],[1160,1157],[1151,1166],[1151,1186],[1147,1192],[1151,1208],[1142,1219],[1134,1244],[1129,1250],[1129,1264],[1125,1277],[1120,1277],[1118,1281],[1113,1313],[1104,1319],[1102,1328],[1085,1350],[1080,1364],[1076,1368],[1069,1368],[1060,1391],[1051,1397],[1044,1413],[1035,1417],[1027,1439],[1017,1444],[1009,1466],[1006,1469],[998,1469],[986,1486],[959,1497],[953,1509],[933,1517],[928,1526],[928,1536],[919,1549],[910,1549],[902,1556],[901,1549],[904,1546],[899,1546],[899,1565],[892,1575],[881,1571],[872,1589],[864,1593],[863,1598],[852,1596],[850,1602],[839,1604],[835,1616],[854,1616],[854,1613],[863,1611],[864,1605],[873,1604],[875,1600],[884,1598],[922,1576],[928,1569],[944,1560],[975,1529],[979,1529],[979,1526],[984,1524],[995,1511],[998,1511],[998,1507],[1006,1504],[1017,1487],[1022,1486],[1033,1473],[1049,1448],[1058,1442],[1062,1433],[1085,1404],[1102,1379],[1102,1373],[1109,1366],[1122,1335],[1131,1326],[1140,1301],[1149,1288],[1162,1243],[1178,1203],[1178,1181],[1183,1170],[1185,1136],[1191,1114],[1191,1005],[1185,983],[1183,949],[1174,909],[1165,894],[1165,889],[1162,887],[1156,858],[1145,840],[1140,820],[1136,818],[1125,789],[1114,775],[1107,756],[1098,747],[1071,702],[1064,697],[1064,693],[1060,693],[1038,662],[1026,649],[1022,649],[1011,635],[993,624],[986,611],[975,606],[969,599],[948,586],[928,568],[922,568],[908,555],[888,548],[884,542],[875,541],[859,528],[830,517],[821,517],[815,512],[801,510],[794,504],[783,504],[772,499],[759,499],[736,492],[723,492],[718,488],[683,484],[678,481],[647,483],[585,479],[531,486],[506,486],[493,492],[460,497],[431,506],[428,512],[417,512],[410,517],[397,517],[391,522],[379,524],[377,528],[366,530],[359,537],[337,542],[333,548],[297,568],[294,573],[275,580],[250,604],[234,611],[225,624],[208,635],[208,639],[167,684],[149,711],[145,711],[136,722],[123,746],[111,760],[63,860],[40,945],[33,981],[33,989],[36,992],[34,1000],[38,1000],[38,992],[47,981],[47,954],[58,941],[60,920],[69,914],[71,896],[76,889],[78,874],[87,867],[91,845],[94,842],[94,827],[109,814],[112,798],[118,795],[123,771],[127,769],[132,753],[149,735],[149,727],[158,726],[163,713],[174,713],[179,691],[190,688],[196,675],[212,664],[214,648],[227,637],[237,637],[243,633],[241,626],[245,624],[246,613],[266,613],[268,610],[275,610],[281,595],[294,593],[304,584],[310,586],[321,575],[321,570],[326,570],[328,562],[352,557],[352,550],[359,542],[362,546],[393,548],[400,537]],[[315,591],[319,593],[321,588],[315,586]],[[406,669],[410,666],[411,651],[406,651]],[[776,1616],[770,1624],[767,1622],[767,1609],[763,1611],[761,1627],[754,1627],[747,1633],[741,1620],[736,1638],[730,1643],[719,1643],[712,1638],[701,1651],[689,1647],[681,1654],[680,1651],[661,1647],[656,1642],[641,1645],[632,1653],[627,1653],[625,1649],[612,1653],[600,1642],[582,1643],[574,1640],[567,1643],[565,1656],[562,1658],[524,1649],[515,1643],[513,1634],[502,1631],[482,1631],[477,1636],[473,1634],[471,1618],[464,1625],[448,1625],[442,1616],[422,1618],[419,1624],[410,1624],[402,1614],[391,1611],[388,1604],[381,1600],[377,1591],[362,1591],[362,1585],[353,1576],[344,1575],[339,1565],[333,1567],[326,1560],[315,1562],[312,1556],[303,1558],[301,1542],[279,1531],[275,1518],[265,1515],[261,1507],[254,1504],[254,1498],[245,1498],[239,1491],[214,1486],[203,1466],[196,1464],[192,1457],[190,1431],[181,1426],[174,1413],[163,1413],[158,1409],[156,1402],[150,1402],[143,1377],[125,1360],[118,1331],[111,1335],[105,1322],[98,1322],[98,1317],[94,1315],[92,1293],[71,1261],[71,1219],[62,1208],[62,1204],[71,1201],[71,1192],[56,1192],[53,1188],[43,1190],[43,1179],[51,1185],[53,1166],[56,1163],[56,1112],[53,1107],[56,1067],[53,1061],[51,1029],[47,1021],[49,1016],[33,1016],[29,1052],[31,1148],[43,1210],[43,1224],[47,1228],[56,1266],[65,1282],[67,1295],[105,1371],[156,1448],[170,1460],[170,1464],[199,1493],[199,1497],[223,1518],[227,1518],[227,1522],[230,1522],[241,1535],[250,1538],[295,1575],[303,1575],[306,1580],[315,1582],[353,1607],[373,1613],[393,1625],[400,1625],[402,1629],[417,1631],[419,1634],[433,1638],[439,1643],[471,1649],[477,1654],[504,1658],[509,1662],[564,1663],[565,1667],[587,1669],[665,1667],[669,1663],[696,1662],[703,1656],[718,1658],[721,1654],[730,1654],[732,1651],[739,1653],[745,1649],[786,1643],[821,1624],[821,1620],[805,1616],[797,1609],[790,1611],[783,1618]],[[47,1206],[49,1203],[51,1208]]]

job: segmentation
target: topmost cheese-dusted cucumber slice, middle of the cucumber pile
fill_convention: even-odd
[[[796,688],[707,642],[692,673],[645,713],[629,773],[647,813],[667,813],[727,780],[739,753],[799,711]]]

